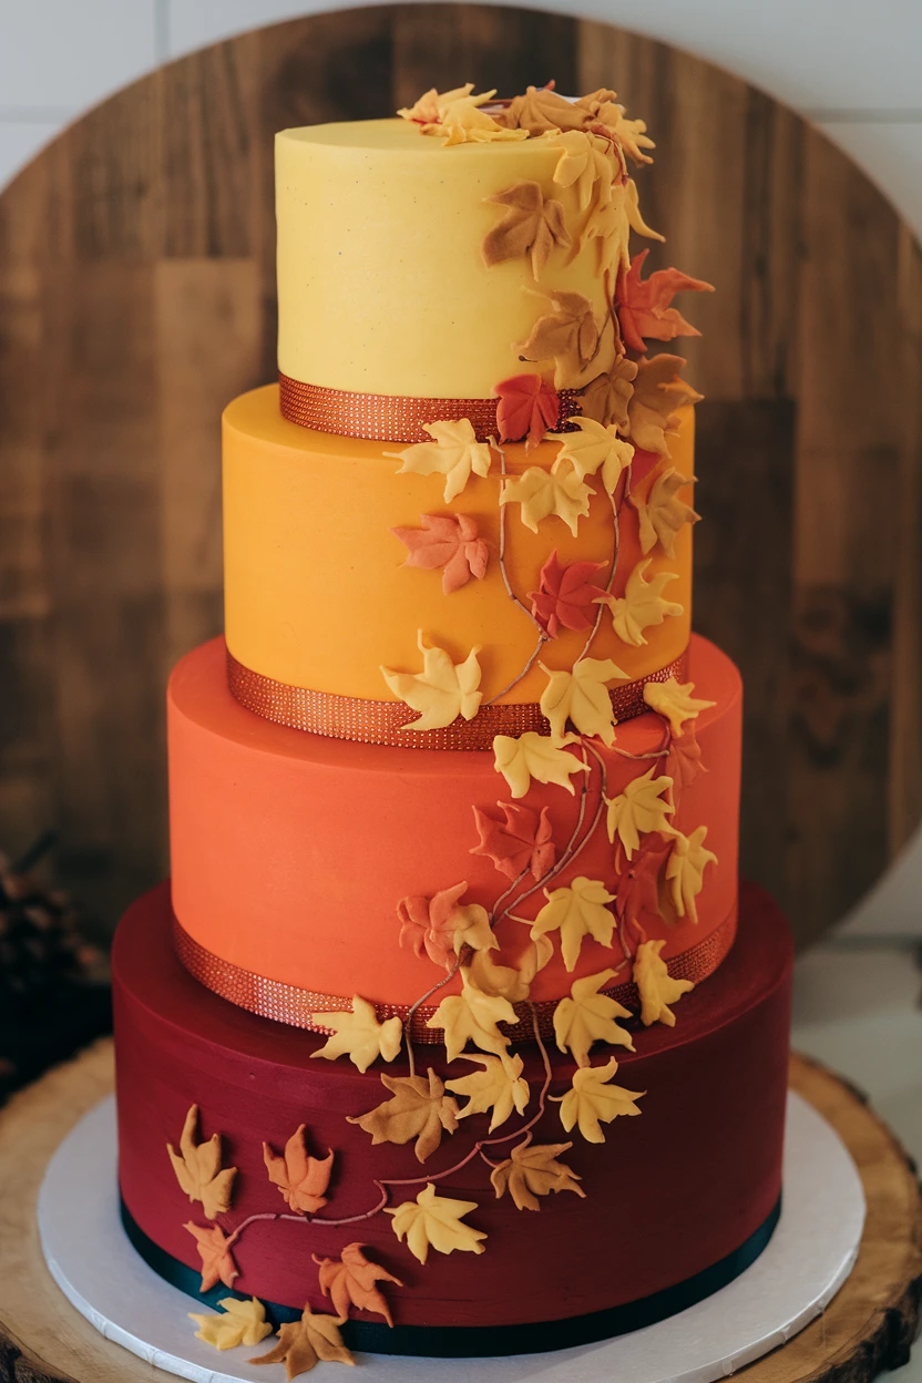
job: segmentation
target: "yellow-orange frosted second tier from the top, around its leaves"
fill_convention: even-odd
[[[535,467],[549,472],[560,449],[560,441],[543,441],[531,451],[516,443],[503,449],[505,465],[513,477]],[[281,685],[397,707],[401,697],[382,668],[417,672],[420,639],[444,649],[455,664],[477,650],[481,714],[493,700],[495,709],[538,703],[547,685],[540,664],[570,669],[586,653],[611,658],[623,674],[610,679],[615,696],[625,683],[673,668],[688,646],[691,626],[693,526],[681,524],[668,544],[670,552],[652,544],[651,530],[644,545],[639,508],[666,470],[691,477],[693,461],[694,411],[684,407],[669,458],[637,451],[630,487],[621,483],[614,505],[601,477],[590,477],[587,513],[575,534],[556,514],[535,523],[532,531],[520,503],[500,508],[503,461],[495,449],[488,474],[471,474],[446,503],[445,474],[398,474],[401,461],[393,444],[317,433],[283,419],[276,386],[235,398],[224,415],[227,643],[238,678],[246,682],[245,669],[270,687],[261,703],[247,701],[246,694],[243,703],[279,718],[272,709],[272,685]],[[688,483],[677,499],[691,503],[691,491]],[[458,557],[464,584],[448,592],[446,567],[406,564],[417,537],[434,531],[441,541],[440,528],[427,530],[433,519],[449,527],[470,524],[462,544],[470,564],[464,550]],[[617,633],[612,613],[592,603],[605,589],[615,544],[614,599],[625,596],[632,577],[634,585],[643,581],[652,589],[659,575],[669,574],[659,586],[668,603],[657,610],[659,622],[644,625],[630,642]],[[540,628],[529,614],[532,593],[540,588],[552,552],[564,566],[597,564],[585,571],[593,591],[576,614],[578,628],[556,628],[531,671],[506,692],[535,653]],[[586,649],[599,611],[599,629]],[[409,709],[402,716],[415,718]],[[301,719],[289,723],[323,729]]]

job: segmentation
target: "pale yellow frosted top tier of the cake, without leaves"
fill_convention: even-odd
[[[576,184],[554,183],[561,154],[558,137],[445,148],[399,119],[282,130],[282,373],[355,393],[489,398],[510,375],[538,372],[517,346],[549,292],[582,293],[605,314],[597,241],[575,248]],[[488,268],[481,252],[503,216],[488,199],[523,181],[574,227],[574,248],[552,249],[539,284],[527,254]]]

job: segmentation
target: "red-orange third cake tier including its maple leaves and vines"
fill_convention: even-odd
[[[445,981],[433,964],[438,939],[430,947],[427,934],[424,945],[419,927],[420,909],[435,918],[440,895],[448,910],[477,904],[495,920],[488,965],[543,965],[531,983],[539,1005],[603,971],[604,989],[629,985],[623,950],[641,939],[664,940],[673,976],[701,979],[726,954],[741,683],[706,640],[690,649],[704,708],[680,736],[648,712],[618,725],[611,748],[545,740],[546,776],[557,777],[545,783],[540,766],[523,780],[513,765],[507,779],[489,752],[347,744],[274,725],[234,700],[224,660],[216,639],[178,664],[169,748],[177,942],[225,997],[304,1026],[354,994],[411,1005]],[[639,867],[659,880],[652,896],[632,875]],[[560,931],[549,920],[547,958],[535,920],[561,899],[575,914]],[[474,946],[477,916],[473,907],[463,921]],[[455,975],[433,1003],[459,987]]]

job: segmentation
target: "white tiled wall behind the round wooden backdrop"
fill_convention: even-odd
[[[69,120],[156,64],[246,29],[344,7],[339,0],[0,0],[0,187]],[[527,7],[621,24],[763,87],[840,144],[922,236],[922,0],[528,0]],[[922,934],[921,898],[922,833],[846,929]]]

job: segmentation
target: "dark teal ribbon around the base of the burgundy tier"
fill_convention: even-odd
[[[133,1246],[149,1268],[170,1286],[178,1288],[187,1296],[195,1297],[202,1306],[218,1308],[225,1297],[249,1300],[243,1293],[223,1285],[210,1292],[199,1292],[200,1275],[180,1263],[148,1238],[133,1218],[131,1212],[119,1200],[122,1224]],[[379,1325],[375,1321],[347,1321],[343,1326],[343,1340],[352,1350],[369,1354],[412,1354],[433,1358],[476,1358],[505,1354],[545,1354],[550,1350],[567,1350],[578,1344],[593,1344],[610,1340],[617,1335],[629,1335],[647,1325],[657,1325],[670,1315],[687,1311],[705,1297],[713,1296],[722,1288],[752,1267],[767,1246],[781,1217],[781,1196],[759,1228],[728,1253],[726,1259],[713,1263],[702,1272],[676,1282],[673,1286],[654,1292],[639,1301],[626,1301],[607,1311],[592,1311],[589,1315],[572,1315],[563,1321],[531,1321],[525,1325]],[[286,1321],[300,1319],[301,1312],[274,1301],[264,1301],[267,1318],[275,1328]]]

